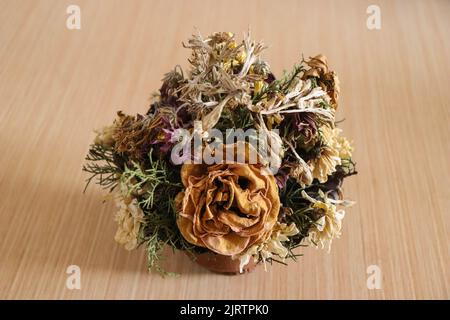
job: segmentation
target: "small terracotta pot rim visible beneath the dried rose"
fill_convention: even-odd
[[[238,275],[252,271],[256,267],[253,259],[244,267],[243,273],[239,272],[239,260],[233,260],[230,256],[223,256],[212,252],[201,253],[194,259],[196,263],[215,273]]]

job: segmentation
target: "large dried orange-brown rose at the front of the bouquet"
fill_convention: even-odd
[[[186,189],[175,205],[178,228],[188,242],[233,256],[271,235],[280,210],[278,187],[264,166],[248,164],[245,146],[243,163],[183,165]],[[226,149],[238,150],[236,144]]]

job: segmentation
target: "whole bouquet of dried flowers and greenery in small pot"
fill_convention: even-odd
[[[163,274],[166,246],[232,274],[296,260],[300,246],[329,250],[352,204],[343,179],[356,171],[325,56],[277,78],[249,35],[183,45],[187,74],[167,73],[145,113],[119,111],[86,156],[87,185],[117,203],[115,240],[144,247]]]

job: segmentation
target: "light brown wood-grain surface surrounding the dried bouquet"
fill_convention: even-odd
[[[66,8],[81,8],[81,30]],[[366,28],[370,4],[381,30]],[[449,1],[0,1],[0,298],[450,298]],[[338,72],[338,118],[354,140],[357,201],[330,254],[246,276],[203,271],[183,254],[146,271],[114,241],[114,205],[83,195],[92,129],[144,112],[197,27],[251,26],[280,74],[317,53]],[[81,290],[65,286],[69,265]],[[366,270],[381,268],[382,289]]]

